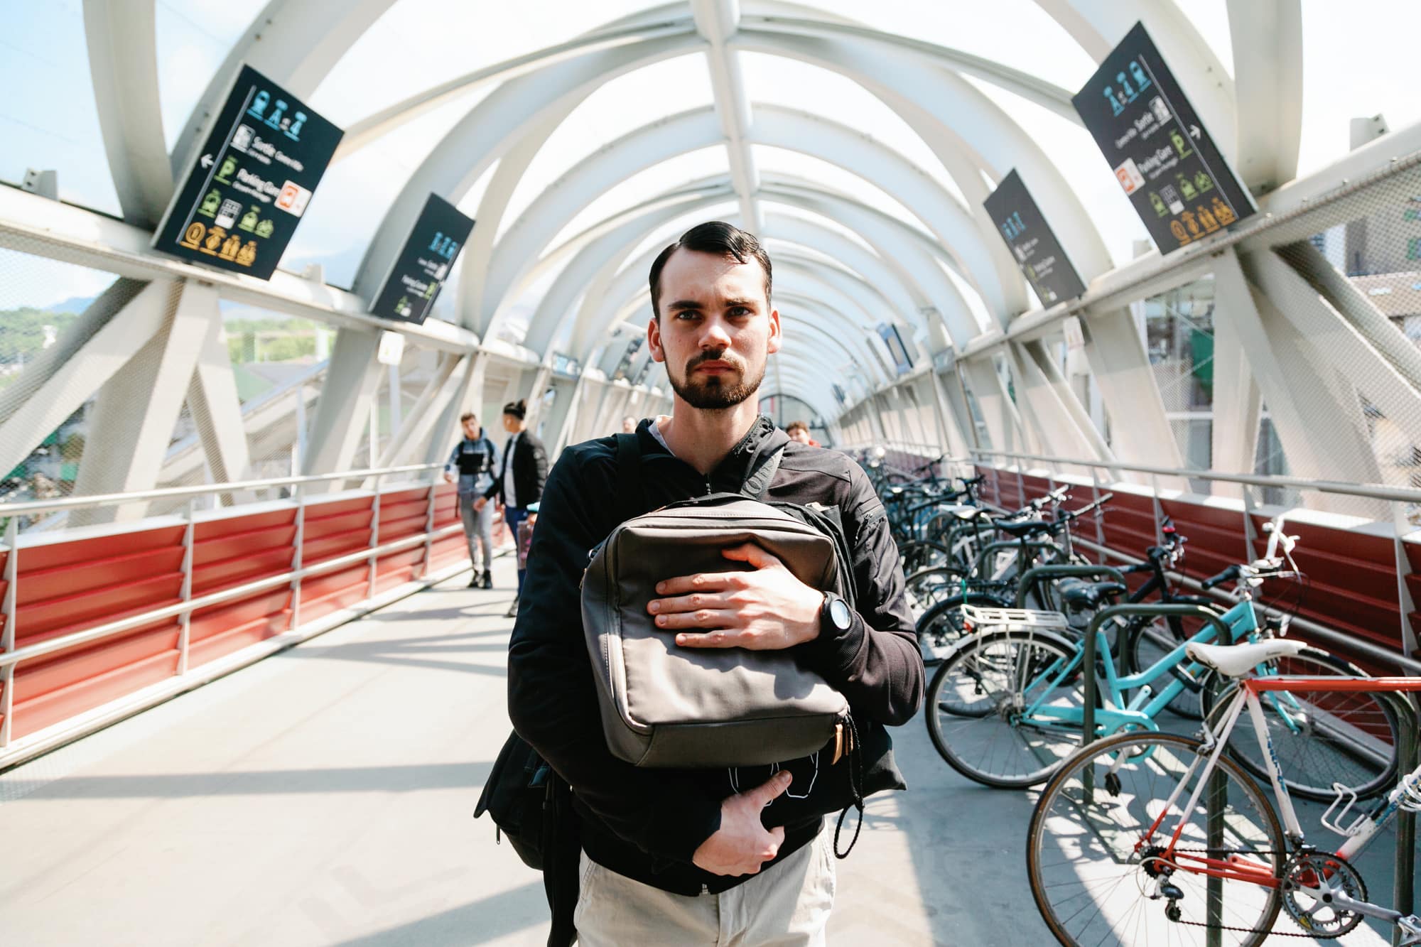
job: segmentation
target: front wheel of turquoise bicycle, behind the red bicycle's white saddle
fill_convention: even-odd
[[[1314,647],[1269,661],[1256,673],[1260,677],[1368,677],[1344,658]],[[1238,681],[1211,671],[1201,694],[1205,714],[1225,705],[1236,687]],[[1363,798],[1395,783],[1397,717],[1377,694],[1270,691],[1260,694],[1259,701],[1277,768],[1293,795],[1331,802],[1337,798],[1334,782]],[[1229,755],[1256,778],[1268,779],[1258,739],[1248,735],[1231,739]]]

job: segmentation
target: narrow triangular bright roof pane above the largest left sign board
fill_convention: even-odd
[[[158,0],[155,4],[158,100],[168,151],[178,142],[217,67],[252,23],[254,10],[227,0]]]

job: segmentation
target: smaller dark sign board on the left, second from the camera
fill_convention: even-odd
[[[439,195],[429,195],[369,311],[406,323],[425,321],[472,232],[473,218]]]

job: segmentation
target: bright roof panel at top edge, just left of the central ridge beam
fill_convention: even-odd
[[[564,43],[648,6],[654,4],[645,0],[560,3],[547,16],[534,16],[519,3],[396,0],[335,64],[311,105],[341,125],[432,85]]]

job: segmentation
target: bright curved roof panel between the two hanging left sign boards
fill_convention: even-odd
[[[333,164],[301,215],[281,266],[300,270],[321,263],[327,283],[350,287],[371,236],[405,182],[489,88],[469,90]]]

